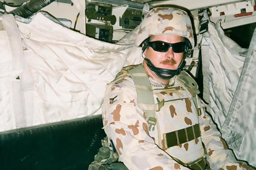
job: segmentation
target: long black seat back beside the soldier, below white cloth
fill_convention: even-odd
[[[105,137],[101,115],[0,132],[1,170],[87,170]]]

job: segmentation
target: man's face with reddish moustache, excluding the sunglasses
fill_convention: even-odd
[[[150,42],[153,41],[164,41],[173,44],[182,42],[183,37],[179,35],[154,35],[153,38],[150,39]],[[180,66],[183,55],[184,52],[173,52],[173,47],[170,47],[166,52],[155,51],[152,47],[147,47],[145,50],[145,57],[150,59],[155,67],[169,70],[177,70]]]

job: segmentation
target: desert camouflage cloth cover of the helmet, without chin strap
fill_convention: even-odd
[[[194,47],[194,37],[190,17],[184,10],[173,7],[155,7],[140,23],[140,30],[135,41],[136,46],[159,34],[174,34],[186,37]]]

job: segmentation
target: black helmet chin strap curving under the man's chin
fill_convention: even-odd
[[[182,71],[182,69],[184,68],[184,66],[186,65],[186,61],[185,59],[182,59],[182,62],[180,63],[180,66],[177,68],[177,70],[170,70],[170,69],[165,69],[165,68],[157,68],[154,66],[154,64],[150,61],[150,59],[144,58],[147,66],[149,67],[150,70],[152,70],[153,72],[155,72],[155,74],[162,79],[171,79],[174,76],[180,74],[180,72]],[[165,76],[163,74],[166,74],[168,76]]]

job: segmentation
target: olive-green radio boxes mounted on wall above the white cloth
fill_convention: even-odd
[[[142,7],[107,1],[86,1],[86,35],[114,43],[142,21]],[[115,35],[120,35],[116,36]]]

